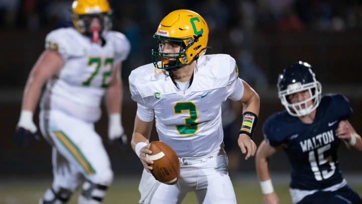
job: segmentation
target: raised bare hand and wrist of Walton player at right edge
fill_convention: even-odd
[[[343,139],[348,149],[358,152],[362,151],[362,139],[348,120],[341,120],[339,122],[336,136],[339,139]]]

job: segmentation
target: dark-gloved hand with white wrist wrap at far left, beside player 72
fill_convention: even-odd
[[[40,140],[38,128],[33,122],[33,113],[23,110],[15,130],[15,144],[25,147],[34,139]]]

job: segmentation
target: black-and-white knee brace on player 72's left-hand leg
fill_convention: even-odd
[[[48,188],[43,198],[40,199],[39,204],[63,204],[69,200],[71,194],[72,191],[65,188],[59,188],[57,191],[53,188]]]

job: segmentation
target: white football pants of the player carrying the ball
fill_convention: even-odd
[[[234,188],[228,174],[228,161],[223,149],[204,158],[180,160],[180,178],[175,185],[156,181],[143,170],[139,190],[140,203],[181,203],[188,192],[194,191],[199,203],[236,203]]]

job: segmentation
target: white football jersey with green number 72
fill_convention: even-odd
[[[45,48],[57,50],[64,66],[48,80],[41,108],[59,109],[85,121],[101,116],[101,99],[115,64],[125,60],[130,43],[122,33],[106,31],[104,46],[74,28],[60,28],[46,36]]]

